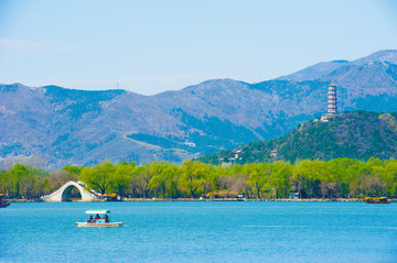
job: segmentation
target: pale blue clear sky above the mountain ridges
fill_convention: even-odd
[[[143,95],[397,50],[394,0],[0,0],[0,83]]]

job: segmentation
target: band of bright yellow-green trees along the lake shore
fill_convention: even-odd
[[[68,180],[82,180],[100,194],[131,198],[337,198],[397,196],[397,161],[353,158],[304,160],[296,164],[278,161],[214,166],[198,161],[182,165],[153,162],[137,166],[133,162],[104,162],[92,167],[65,166],[52,173],[15,164],[0,172],[0,193],[10,198],[39,198]]]

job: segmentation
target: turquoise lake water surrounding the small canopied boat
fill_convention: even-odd
[[[82,229],[88,209],[122,228]],[[36,202],[0,209],[0,262],[397,262],[397,204]]]

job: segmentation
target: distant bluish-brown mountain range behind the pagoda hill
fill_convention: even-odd
[[[49,168],[182,162],[280,136],[321,116],[331,80],[341,111],[397,109],[397,51],[309,68],[258,84],[213,79],[154,96],[0,85],[0,157],[37,155]]]

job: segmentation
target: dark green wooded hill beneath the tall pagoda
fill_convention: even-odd
[[[310,121],[287,133],[266,142],[254,142],[242,147],[223,151],[200,158],[203,162],[238,164],[286,160],[331,160],[350,157],[397,157],[397,113],[355,111],[344,113],[330,122]],[[277,156],[271,156],[271,151]]]

